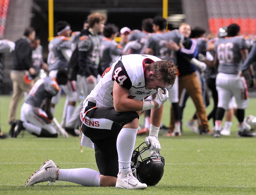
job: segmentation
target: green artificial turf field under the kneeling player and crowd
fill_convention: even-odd
[[[0,96],[1,129],[8,133],[10,96]],[[22,100],[23,101],[23,100]],[[65,97],[56,106],[55,117],[61,120]],[[21,104],[20,104],[21,105]],[[19,105],[19,108],[20,108]],[[246,116],[256,115],[256,98],[250,98]],[[207,113],[212,108],[212,102]],[[168,126],[170,103],[165,103],[163,123]],[[184,122],[195,112],[191,99],[187,102]],[[17,118],[20,111],[18,110]],[[143,118],[143,116],[141,117]],[[141,121],[140,121],[141,122]],[[212,127],[212,120],[210,121]],[[0,140],[0,194],[256,194],[256,138],[238,138],[234,118],[231,136],[213,138],[200,136],[183,125],[180,137],[164,137],[159,141],[165,158],[164,176],[156,186],[145,190],[122,190],[115,187],[84,187],[62,182],[46,186],[47,182],[25,187],[29,175],[47,158],[60,168],[92,168],[94,151],[80,149],[79,137],[37,138],[27,132],[16,139]],[[144,141],[137,136],[135,146]]]

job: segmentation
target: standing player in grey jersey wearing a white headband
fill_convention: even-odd
[[[47,64],[49,77],[56,78],[57,72],[60,69],[68,69],[68,62],[72,55],[71,42],[69,36],[72,32],[67,21],[58,21],[55,25],[57,35],[48,44],[49,54]],[[66,121],[69,120],[75,110],[77,101],[76,81],[68,81],[66,85],[61,85],[61,89],[66,94],[66,102],[63,109],[61,124],[64,127]],[[59,102],[61,90],[52,98],[52,114],[54,114],[54,107]]]

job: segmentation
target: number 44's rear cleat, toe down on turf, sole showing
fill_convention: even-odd
[[[42,164],[42,166],[32,173],[27,182],[25,183],[26,186],[34,185],[35,183],[47,182],[49,184],[56,181],[58,168],[52,160],[47,159],[46,162]]]

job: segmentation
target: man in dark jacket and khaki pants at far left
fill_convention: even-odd
[[[32,78],[35,76],[35,69],[32,61],[32,47],[30,43],[35,39],[34,28],[25,29],[23,36],[15,42],[13,54],[13,68],[10,76],[12,80],[13,94],[9,106],[8,123],[11,128],[16,125],[16,110],[24,92],[28,93],[34,85]],[[25,77],[28,79],[25,81]]]

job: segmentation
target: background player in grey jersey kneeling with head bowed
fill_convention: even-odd
[[[28,93],[21,106],[20,120],[17,120],[12,137],[17,137],[21,130],[38,137],[57,137],[57,129],[52,125],[51,100],[60,88],[68,82],[66,70],[59,70],[56,79],[45,77],[39,79]]]

